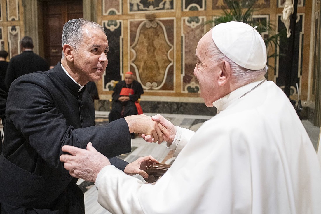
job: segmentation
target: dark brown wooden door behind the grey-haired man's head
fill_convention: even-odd
[[[61,60],[63,26],[71,19],[82,18],[82,1],[47,1],[43,3],[43,13],[45,58],[55,66]]]

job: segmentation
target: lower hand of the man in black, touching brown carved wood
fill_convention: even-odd
[[[140,176],[147,178],[148,174],[143,170],[145,170],[147,166],[152,164],[159,164],[159,162],[152,156],[140,157],[134,162],[127,164],[124,172],[128,175],[139,174]]]

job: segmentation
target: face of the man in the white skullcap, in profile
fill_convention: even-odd
[[[194,69],[200,88],[201,97],[204,99],[207,107],[212,107],[213,102],[220,98],[219,87],[217,79],[221,68],[218,63],[213,61],[213,53],[208,51],[208,47],[213,42],[212,30],[207,32],[201,40],[199,40],[195,55],[197,57],[197,64]]]

